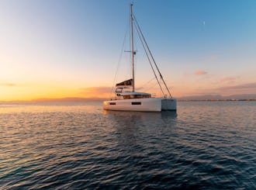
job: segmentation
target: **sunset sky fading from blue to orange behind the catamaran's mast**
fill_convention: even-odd
[[[129,6],[1,0],[0,101],[109,98],[131,77]],[[133,13],[173,96],[256,94],[256,1],[134,0]],[[159,95],[136,34],[135,50],[137,90]]]

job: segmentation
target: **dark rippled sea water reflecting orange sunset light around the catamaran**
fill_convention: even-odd
[[[256,188],[256,102],[0,104],[0,189]]]

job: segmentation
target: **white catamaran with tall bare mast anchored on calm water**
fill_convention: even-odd
[[[136,51],[133,46],[133,26],[135,26],[142,46],[144,47],[147,59],[150,62],[150,67],[154,72],[154,77],[161,89],[163,97],[154,98],[150,93],[136,92],[135,80],[134,80],[134,56]],[[161,112],[163,110],[176,110],[177,100],[172,97],[171,92],[166,85],[164,78],[157,67],[153,55],[147,45],[144,35],[138,25],[137,19],[133,15],[133,4],[130,4],[130,39],[131,39],[131,64],[132,64],[132,76],[126,81],[122,81],[116,84],[116,97],[111,98],[103,102],[103,109],[106,110],[119,110],[119,111],[142,111],[142,112]],[[167,90],[168,95],[164,94],[164,88],[161,85],[161,81],[164,84],[164,88]]]

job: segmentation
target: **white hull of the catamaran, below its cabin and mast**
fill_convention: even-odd
[[[176,99],[133,98],[109,100],[103,102],[103,109],[142,112],[161,112],[161,110],[176,110]]]

